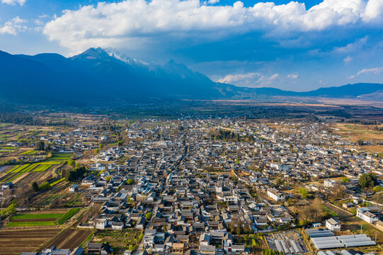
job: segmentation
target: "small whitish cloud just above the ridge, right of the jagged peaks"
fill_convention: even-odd
[[[250,72],[247,74],[229,74],[226,77],[219,79],[217,82],[255,88],[272,84],[278,77],[279,74],[273,74],[268,77],[258,72]]]

